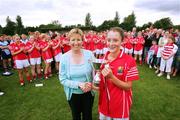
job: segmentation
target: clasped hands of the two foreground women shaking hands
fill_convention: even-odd
[[[80,83],[78,86],[84,93],[91,91],[92,83],[91,82],[84,82]]]

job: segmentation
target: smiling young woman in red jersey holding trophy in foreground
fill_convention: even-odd
[[[119,27],[111,28],[107,35],[109,51],[106,64],[101,66],[99,86],[99,119],[129,120],[132,105],[132,81],[138,80],[136,62],[121,50],[124,32]]]

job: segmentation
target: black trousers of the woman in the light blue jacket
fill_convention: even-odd
[[[94,96],[91,92],[84,94],[72,94],[71,99],[68,101],[72,111],[73,120],[92,120],[92,107]]]

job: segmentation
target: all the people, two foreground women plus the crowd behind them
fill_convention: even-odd
[[[0,48],[3,75],[17,69],[21,86],[24,74],[29,82],[51,77],[53,62],[74,120],[92,119],[94,91],[99,91],[100,120],[129,120],[132,81],[139,79],[136,62],[154,68],[158,77],[166,72],[167,79],[180,69],[179,30],[36,31],[28,37],[2,35]]]

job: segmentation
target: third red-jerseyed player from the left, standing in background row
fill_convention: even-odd
[[[45,63],[44,77],[48,79],[51,74],[51,62],[53,61],[53,56],[51,52],[50,36],[46,34],[41,35],[41,41],[39,42],[39,47],[41,48],[41,55]]]

